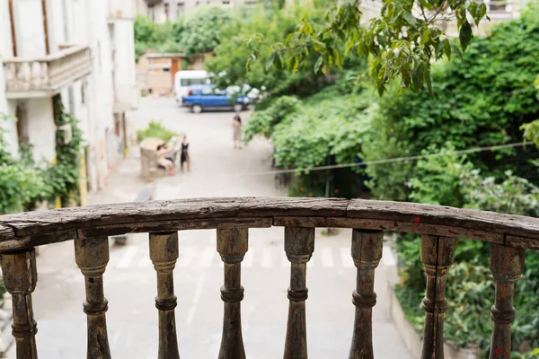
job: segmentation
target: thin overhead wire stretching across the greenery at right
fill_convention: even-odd
[[[408,161],[422,160],[424,158],[452,156],[452,155],[455,155],[455,154],[477,153],[477,152],[486,152],[486,151],[498,151],[498,150],[501,150],[501,149],[504,149],[504,148],[526,146],[528,144],[530,144],[530,143],[529,142],[527,142],[527,143],[525,143],[525,142],[517,142],[517,143],[513,143],[513,144],[496,144],[496,145],[490,145],[490,146],[485,146],[485,147],[474,147],[474,148],[468,148],[468,149],[465,149],[465,150],[444,152],[444,153],[419,154],[417,156],[385,158],[385,159],[382,159],[382,160],[373,160],[373,161],[365,161],[365,162],[331,164],[331,165],[326,165],[326,166],[310,167],[310,168],[303,168],[303,169],[256,171],[256,172],[238,173],[238,175],[242,175],[242,176],[260,176],[260,175],[269,175],[269,174],[277,174],[277,173],[296,173],[296,172],[305,172],[305,171],[323,171],[323,170],[332,170],[332,169],[339,169],[339,168],[367,166],[367,165],[372,165],[372,164],[384,164],[384,163],[392,163],[392,162],[408,162]]]

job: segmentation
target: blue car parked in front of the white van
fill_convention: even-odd
[[[200,113],[204,109],[234,109],[240,112],[247,109],[251,101],[247,96],[234,95],[234,92],[219,90],[214,86],[192,85],[181,102],[194,113]]]

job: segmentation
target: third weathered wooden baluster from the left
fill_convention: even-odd
[[[159,310],[159,359],[179,359],[173,270],[178,259],[178,232],[150,233],[150,258],[157,272],[155,307]]]

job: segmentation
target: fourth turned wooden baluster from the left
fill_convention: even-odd
[[[219,359],[245,358],[240,303],[243,300],[241,263],[247,252],[247,237],[247,228],[217,230],[217,251],[225,262],[225,285],[221,287],[225,315]]]

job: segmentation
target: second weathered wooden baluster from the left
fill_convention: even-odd
[[[75,239],[75,261],[84,275],[87,315],[88,359],[110,359],[109,337],[105,313],[108,302],[103,293],[103,273],[109,262],[107,237]]]

